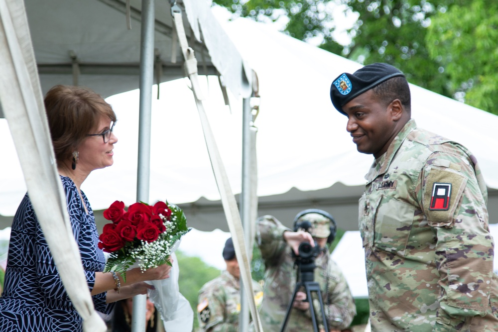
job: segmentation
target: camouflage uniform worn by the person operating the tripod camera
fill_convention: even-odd
[[[266,269],[264,299],[259,314],[263,331],[268,332],[280,331],[296,286],[297,269],[294,268],[292,249],[282,237],[285,230],[290,229],[272,216],[264,216],[257,222],[256,240]],[[329,330],[345,329],[356,315],[346,279],[330,255],[321,254],[316,257],[315,264],[314,279],[320,285]],[[314,308],[323,326],[318,299],[314,301]],[[310,311],[293,308],[286,331],[313,331]]]

